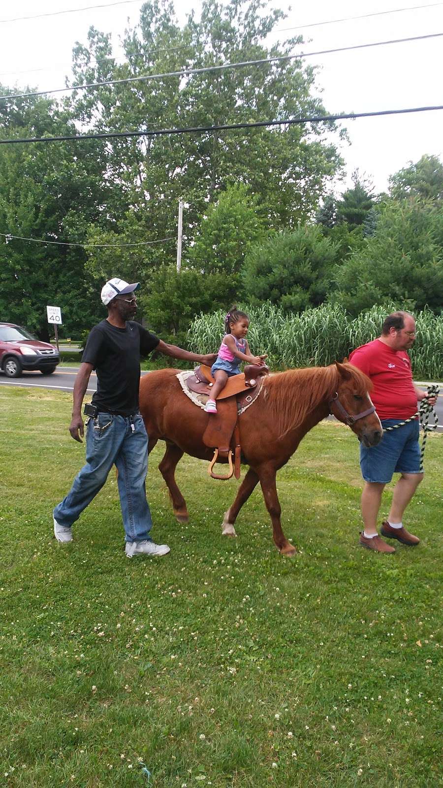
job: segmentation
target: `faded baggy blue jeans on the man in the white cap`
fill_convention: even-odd
[[[99,413],[89,420],[86,465],[76,475],[68,495],[55,507],[54,518],[61,526],[72,526],[102,489],[114,463],[126,541],[149,539],[152,521],[145,489],[147,432],[140,414],[132,416],[132,422],[129,417],[109,413]]]

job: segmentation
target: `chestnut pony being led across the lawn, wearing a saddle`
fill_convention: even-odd
[[[213,450],[202,440],[212,416],[184,395],[177,371],[158,370],[142,377],[140,412],[150,451],[158,440],[166,441],[166,453],[158,467],[168,486],[174,515],[178,522],[188,522],[188,509],[174,471],[184,453],[208,461],[212,458]],[[249,470],[225,512],[222,533],[236,536],[236,517],[259,481],[272,520],[274,542],[283,555],[292,556],[296,548],[281,530],[275,474],[288,462],[304,435],[329,413],[348,424],[367,446],[378,444],[382,425],[370,401],[370,388],[369,378],[348,362],[266,377],[259,396],[239,418],[242,461]]]

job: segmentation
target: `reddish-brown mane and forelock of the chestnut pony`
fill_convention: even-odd
[[[372,388],[369,378],[352,364],[343,366],[352,376],[356,394],[367,394]],[[299,427],[317,405],[330,400],[340,381],[341,374],[335,364],[287,370],[266,377],[263,394],[280,437]]]

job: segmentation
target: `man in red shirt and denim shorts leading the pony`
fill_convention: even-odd
[[[415,342],[415,320],[408,312],[394,312],[385,318],[382,335],[352,351],[349,361],[358,366],[374,388],[372,400],[382,427],[395,426],[411,418],[417,411],[417,400],[427,395],[412,380],[411,360],[406,351]],[[434,404],[436,398],[430,398]],[[360,544],[378,552],[395,552],[378,536],[377,519],[385,485],[400,473],[393,490],[388,519],[381,533],[404,545],[418,545],[419,538],[404,528],[402,518],[411,497],[423,479],[420,472],[419,422],[385,432],[378,446],[360,445],[360,467],[365,485],[362,492],[363,533]]]

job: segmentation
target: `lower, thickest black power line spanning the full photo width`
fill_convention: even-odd
[[[121,139],[122,137],[156,137],[167,134],[200,134],[202,132],[222,132],[236,128],[261,128],[265,126],[292,126],[304,123],[326,123],[328,121],[354,120],[357,117],[377,117],[382,115],[403,115],[414,112],[432,112],[443,110],[443,104],[435,106],[415,106],[405,110],[378,110],[374,112],[351,112],[340,115],[315,115],[312,117],[291,117],[284,121],[255,121],[255,123],[226,123],[219,126],[189,126],[183,128],[160,128],[157,131],[144,132],[103,132],[95,134],[79,134],[76,136],[60,137],[27,137],[23,139],[0,139],[0,145],[11,145],[16,143],[56,143],[71,142],[81,139]],[[83,244],[80,244],[83,245]]]

